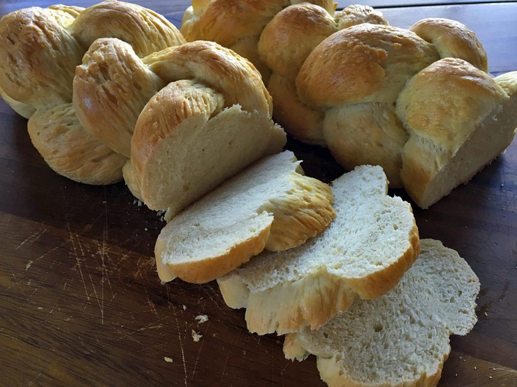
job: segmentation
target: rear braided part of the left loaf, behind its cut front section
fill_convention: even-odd
[[[75,67],[102,37],[124,39],[141,56],[185,42],[162,15],[113,0],[86,9],[25,8],[0,19],[0,95],[29,119],[29,134],[45,162],[88,184],[122,179],[124,145],[130,140],[124,133],[82,125],[77,104],[71,104]]]

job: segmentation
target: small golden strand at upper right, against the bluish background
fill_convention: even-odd
[[[483,45],[473,31],[450,19],[422,19],[409,27],[420,38],[434,44],[440,58],[460,58],[488,72]]]

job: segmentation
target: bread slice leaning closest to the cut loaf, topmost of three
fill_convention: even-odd
[[[332,191],[299,164],[289,151],[266,157],[173,218],[156,241],[160,279],[208,282],[325,229],[335,215]]]

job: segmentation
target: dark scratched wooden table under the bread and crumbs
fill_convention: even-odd
[[[0,14],[52,3],[2,0]],[[138,3],[177,26],[187,6]],[[407,3],[383,2],[391,24],[460,20],[483,42],[491,72],[517,69],[517,4],[398,7]],[[26,120],[3,102],[0,123],[0,385],[324,385],[313,357],[287,361],[281,337],[249,334],[244,312],[225,306],[215,282],[160,283],[153,247],[164,223],[123,183],[58,176],[32,147]],[[288,148],[310,175],[330,181],[342,172],[323,149]],[[452,337],[439,385],[517,386],[517,141],[431,209],[415,208],[415,217],[421,237],[458,250],[481,281],[479,321]],[[209,321],[198,325],[199,314]],[[197,343],[192,330],[203,335]]]

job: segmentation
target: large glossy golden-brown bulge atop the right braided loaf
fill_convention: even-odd
[[[296,88],[303,103],[393,103],[406,80],[438,59],[434,46],[413,32],[359,24],[325,39],[303,63]]]

